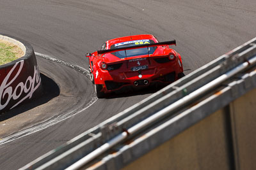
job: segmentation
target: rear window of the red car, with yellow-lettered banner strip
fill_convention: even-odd
[[[132,41],[125,41],[122,43],[116,43],[115,45],[111,45],[111,49],[115,48],[121,48],[125,46],[134,46],[134,45],[146,45],[146,44],[151,44],[155,43],[152,39],[139,39],[139,40],[132,40]],[[113,52],[112,54],[115,55],[116,57],[123,59],[125,57],[134,57],[136,55],[147,55],[148,50],[149,54],[154,53],[156,50],[157,46],[150,46],[149,48],[137,48],[137,49],[132,49],[132,50],[122,50],[119,52]],[[126,55],[125,55],[126,51]]]

